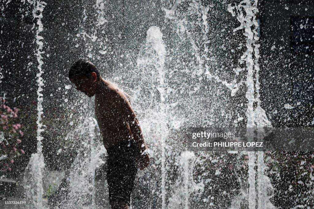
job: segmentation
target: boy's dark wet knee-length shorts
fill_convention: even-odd
[[[131,192],[138,170],[138,148],[135,141],[119,142],[107,149],[107,181],[109,201],[123,202],[130,206]]]

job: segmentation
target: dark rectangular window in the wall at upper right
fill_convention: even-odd
[[[314,17],[291,17],[291,52],[314,54]]]

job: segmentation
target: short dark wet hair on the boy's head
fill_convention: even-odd
[[[79,59],[70,68],[69,79],[71,79],[74,75],[84,75],[89,78],[92,72],[96,73],[97,79],[100,78],[99,71],[92,62],[88,59]]]

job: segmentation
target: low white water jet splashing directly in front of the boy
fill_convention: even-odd
[[[106,153],[105,147],[95,141],[95,118],[86,117],[83,124],[78,128],[81,130],[83,150],[78,153],[73,161],[68,176],[68,195],[61,201],[60,208],[96,208],[95,205],[95,170],[103,162],[101,155]]]

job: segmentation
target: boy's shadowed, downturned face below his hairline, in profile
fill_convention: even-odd
[[[83,92],[88,97],[95,95],[95,81],[93,76],[88,78],[84,75],[74,75],[70,81],[76,86],[78,91]]]

